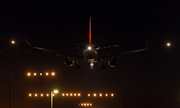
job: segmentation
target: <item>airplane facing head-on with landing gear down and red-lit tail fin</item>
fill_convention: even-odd
[[[170,46],[171,45],[170,43],[167,43],[165,46],[158,46],[158,47],[154,47],[154,48],[148,48],[147,47],[148,44],[147,44],[146,48],[144,48],[144,49],[138,49],[138,50],[133,50],[133,51],[128,51],[128,52],[118,53],[118,54],[115,54],[115,55],[107,55],[107,56],[100,56],[99,57],[98,53],[97,53],[98,50],[105,49],[105,48],[117,47],[118,45],[95,47],[91,43],[91,17],[89,18],[89,43],[85,47],[84,46],[79,46],[79,45],[63,44],[63,45],[67,45],[67,46],[70,46],[70,47],[76,47],[78,49],[83,49],[84,51],[83,51],[82,56],[73,55],[73,54],[65,54],[65,53],[61,53],[59,51],[44,49],[44,48],[41,48],[41,47],[35,47],[35,46],[32,46],[26,39],[25,39],[25,41],[29,45],[29,46],[26,46],[26,47],[30,47],[30,48],[33,48],[33,49],[36,49],[36,50],[41,50],[41,51],[43,51],[45,53],[56,54],[57,56],[65,56],[66,57],[65,61],[64,61],[65,65],[73,66],[73,64],[76,62],[76,69],[80,69],[80,62],[88,62],[90,64],[90,69],[91,70],[93,70],[94,64],[97,63],[97,62],[102,62],[101,70],[103,70],[103,69],[106,69],[106,65],[105,65],[106,62],[109,64],[110,67],[115,67],[118,64],[118,61],[117,61],[118,57],[124,57],[124,56],[127,56],[127,55],[137,54],[137,53],[140,53],[140,52],[159,49],[159,48],[163,48],[165,46]]]

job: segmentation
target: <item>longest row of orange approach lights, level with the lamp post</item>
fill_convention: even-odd
[[[97,93],[93,93],[93,94],[87,94],[87,96],[88,97],[91,97],[91,95],[93,96],[93,97],[97,97],[98,96],[98,94]],[[29,93],[29,97],[32,97],[33,95],[32,95],[32,93]],[[35,93],[34,94],[34,96],[35,97],[38,97],[38,94],[37,93]],[[53,96],[55,96],[54,94],[53,94]],[[68,97],[68,96],[70,96],[70,97],[80,97],[81,96],[81,93],[62,93],[62,97]],[[99,97],[103,97],[103,96],[105,96],[105,97],[108,97],[109,96],[109,94],[108,93],[106,93],[106,94],[102,94],[102,93],[99,93]],[[40,97],[44,97],[44,94],[43,93],[41,93],[40,94]],[[46,97],[49,97],[49,94],[47,93],[46,94]],[[114,97],[114,93],[111,93],[110,94],[110,97]]]

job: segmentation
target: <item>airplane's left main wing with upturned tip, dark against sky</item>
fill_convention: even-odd
[[[40,50],[40,51],[42,51],[44,53],[55,54],[56,56],[70,57],[71,60],[73,60],[73,61],[82,62],[84,60],[83,56],[77,56],[77,55],[73,55],[73,54],[65,54],[65,53],[61,53],[59,51],[54,51],[54,50],[45,49],[45,48],[41,48],[41,47],[35,47],[35,46],[32,46],[27,40],[25,40],[25,41],[29,46],[22,45],[22,44],[21,44],[21,46],[28,47],[28,48],[33,48],[33,49],[36,49],[36,50]]]

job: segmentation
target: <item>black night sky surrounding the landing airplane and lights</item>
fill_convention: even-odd
[[[84,2],[1,2],[0,3],[0,107],[8,108],[9,52],[12,51],[12,108],[39,108],[40,77],[27,77],[27,72],[56,72],[43,76],[43,93],[59,90],[55,108],[78,108],[81,102],[94,107],[180,108],[180,8],[179,3],[133,1]],[[62,53],[82,55],[82,50],[62,44],[87,45],[89,17],[92,22],[92,44],[118,44],[119,47],[99,50],[99,56],[149,48],[171,42],[171,47],[118,58],[118,65],[94,70],[88,63],[81,69],[64,65],[64,57],[46,54],[21,46],[32,45]],[[148,33],[148,29],[150,32]],[[28,53],[26,51],[28,50]],[[18,53],[18,51],[20,51]],[[61,93],[81,93],[81,97],[61,97]],[[114,93],[114,97],[87,98],[88,93]],[[44,98],[44,108],[50,99]],[[94,108],[92,107],[92,108]]]

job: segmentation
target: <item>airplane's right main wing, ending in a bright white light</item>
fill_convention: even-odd
[[[142,53],[142,52],[158,50],[158,49],[168,47],[168,46],[170,46],[170,43],[167,43],[166,46],[158,46],[158,47],[154,47],[154,48],[145,48],[145,49],[139,49],[139,50],[133,50],[133,51],[128,51],[128,52],[118,53],[118,54],[115,54],[115,55],[101,56],[101,57],[98,57],[97,61],[107,62],[107,61],[110,61],[112,57],[119,58],[119,57],[124,57],[124,56],[128,56],[128,55],[139,54],[139,53]]]

